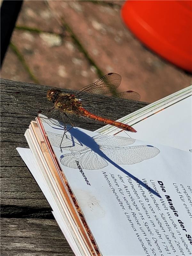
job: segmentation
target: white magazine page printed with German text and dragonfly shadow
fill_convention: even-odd
[[[79,128],[61,153],[63,128],[44,127],[102,255],[191,255],[190,153]]]

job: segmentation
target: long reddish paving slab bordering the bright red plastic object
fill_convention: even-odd
[[[148,51],[125,28],[120,8],[84,1],[50,6],[72,28],[96,65],[104,73],[123,77],[120,91],[135,90],[144,101],[154,101],[186,87],[191,77]],[[81,24],[78,26],[78,24]]]

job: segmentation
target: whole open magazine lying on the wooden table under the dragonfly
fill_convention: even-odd
[[[72,128],[62,152],[62,123],[31,122],[30,149],[17,150],[76,255],[191,255],[191,98],[187,88],[124,117],[134,134]]]

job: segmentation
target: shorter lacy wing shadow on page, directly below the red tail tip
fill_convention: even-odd
[[[93,137],[93,140],[98,145],[101,146],[108,146],[108,147],[115,147],[118,145],[119,147],[128,146],[135,142],[135,139],[132,138],[125,138],[121,136],[111,136],[105,134],[97,134]]]

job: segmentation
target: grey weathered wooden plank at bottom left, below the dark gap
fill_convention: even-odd
[[[1,255],[73,256],[55,220],[1,218]]]

